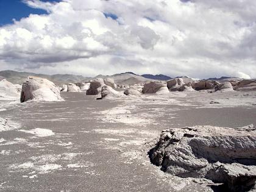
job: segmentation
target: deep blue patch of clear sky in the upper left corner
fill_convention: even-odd
[[[46,1],[46,0],[44,0]],[[60,0],[48,0],[49,2],[60,1]],[[27,17],[30,14],[46,14],[45,10],[33,9],[21,0],[0,0],[0,26],[5,24],[12,24],[13,19],[20,20],[21,18]]]

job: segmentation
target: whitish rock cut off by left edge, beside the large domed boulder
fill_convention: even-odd
[[[0,81],[0,100],[13,101],[20,98],[21,85],[13,85],[6,79]]]

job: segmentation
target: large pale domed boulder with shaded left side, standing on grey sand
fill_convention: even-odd
[[[30,76],[22,85],[21,102],[34,101],[63,101],[59,88],[51,81],[40,77]]]

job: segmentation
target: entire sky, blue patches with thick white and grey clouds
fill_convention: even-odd
[[[256,1],[0,0],[0,70],[256,78]]]

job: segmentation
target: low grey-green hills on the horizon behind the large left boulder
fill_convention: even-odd
[[[72,74],[54,74],[54,75],[47,75],[47,74],[36,74],[36,73],[27,73],[27,72],[18,72],[18,71],[0,71],[0,76],[4,77],[12,84],[23,84],[23,82],[27,79],[28,76],[37,76],[46,78],[51,80],[56,85],[74,83],[79,81],[84,81],[88,79],[88,77],[84,76],[76,76]]]

